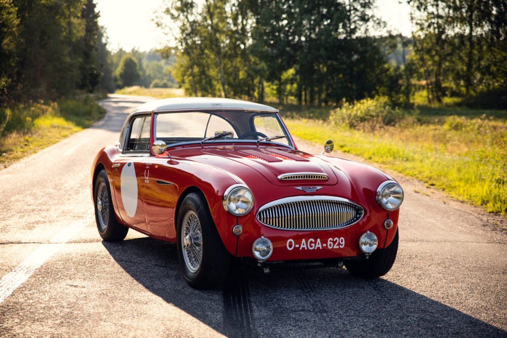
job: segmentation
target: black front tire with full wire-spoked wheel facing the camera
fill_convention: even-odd
[[[199,223],[200,235],[197,230],[189,231],[191,224],[195,224],[196,220]],[[231,264],[231,255],[216,231],[202,194],[191,193],[183,200],[178,212],[176,246],[179,266],[190,286],[196,289],[209,289],[224,284]],[[195,250],[192,251],[192,248]],[[194,253],[199,248],[200,262],[193,259],[196,257]]]

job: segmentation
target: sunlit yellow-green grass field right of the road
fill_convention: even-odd
[[[507,214],[505,111],[488,110],[485,114],[484,109],[434,109],[449,110],[419,107],[405,111],[401,120],[390,125],[379,125],[378,116],[374,116],[357,120],[351,127],[343,123],[350,120],[339,116],[357,117],[350,107],[332,111],[327,121],[289,118],[285,122],[298,137],[317,143],[332,139],[344,153],[422,180],[489,212]]]

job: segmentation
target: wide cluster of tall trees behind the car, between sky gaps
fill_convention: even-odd
[[[264,100],[265,83],[279,103],[328,104],[378,92],[389,65],[374,0],[173,0],[174,76],[194,95]],[[164,26],[163,19],[157,21]]]

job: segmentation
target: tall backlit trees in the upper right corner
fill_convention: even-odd
[[[497,0],[409,0],[415,56],[428,101],[497,92],[507,104],[507,5]],[[501,94],[503,93],[503,94]],[[492,101],[495,101],[493,99]]]

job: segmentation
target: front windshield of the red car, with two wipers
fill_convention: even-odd
[[[267,142],[292,146],[278,115],[245,111],[191,111],[160,113],[155,121],[155,139],[168,146],[182,142]],[[216,136],[216,137],[214,137]],[[208,140],[206,140],[208,139]],[[266,142],[266,141],[263,141]]]

